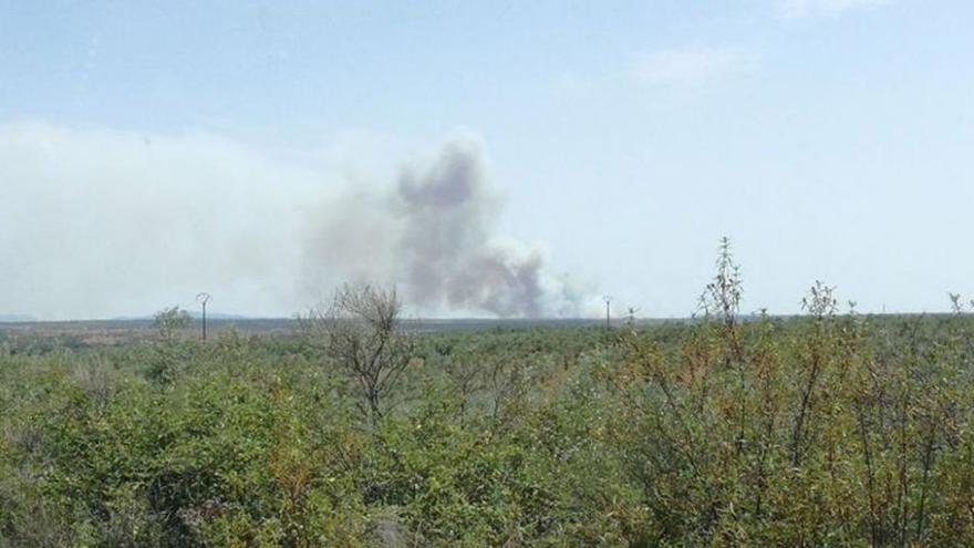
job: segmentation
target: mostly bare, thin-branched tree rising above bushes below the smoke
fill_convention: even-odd
[[[382,416],[413,354],[401,312],[395,288],[345,285],[328,307],[312,309],[305,319],[327,359],[334,360],[356,386],[372,420]]]

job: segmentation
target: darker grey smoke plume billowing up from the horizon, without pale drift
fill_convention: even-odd
[[[387,196],[343,200],[311,250],[332,257],[346,277],[400,285],[407,303],[425,310],[579,313],[576,292],[540,250],[495,238],[500,205],[478,145],[458,138],[429,165],[402,169]]]

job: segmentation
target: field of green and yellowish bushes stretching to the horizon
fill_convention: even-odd
[[[742,319],[729,267],[652,327],[0,342],[0,546],[974,546],[961,301]]]

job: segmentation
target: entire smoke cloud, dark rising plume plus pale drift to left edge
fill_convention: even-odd
[[[540,248],[496,234],[475,141],[380,185],[335,170],[334,151],[302,154],[0,125],[0,317],[139,316],[199,291],[217,311],[291,316],[351,280],[396,283],[418,316],[579,313]]]

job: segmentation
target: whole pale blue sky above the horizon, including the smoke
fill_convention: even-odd
[[[0,3],[0,317],[974,297],[974,3]]]

